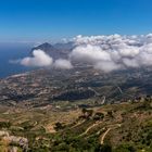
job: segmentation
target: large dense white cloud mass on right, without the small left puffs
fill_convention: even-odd
[[[152,65],[152,34],[141,36],[77,36],[71,60],[103,72]]]

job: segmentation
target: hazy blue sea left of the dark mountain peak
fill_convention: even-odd
[[[12,64],[9,61],[29,55],[33,47],[34,43],[0,42],[0,78],[30,71],[29,67]]]

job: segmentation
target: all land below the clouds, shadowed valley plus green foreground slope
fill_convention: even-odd
[[[152,69],[77,65],[0,80],[0,150],[151,152]]]

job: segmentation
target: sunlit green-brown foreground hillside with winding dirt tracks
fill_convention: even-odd
[[[0,109],[0,150],[151,152],[151,97],[122,104],[67,110],[68,102]]]

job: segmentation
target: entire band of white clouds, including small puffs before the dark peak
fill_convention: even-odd
[[[73,68],[71,61],[89,63],[103,72],[143,67],[152,65],[152,34],[140,36],[77,36],[72,40],[75,48],[68,60],[53,61],[42,50],[33,51],[33,56],[20,60],[25,66],[53,66],[55,68]],[[18,62],[18,61],[17,61]]]

